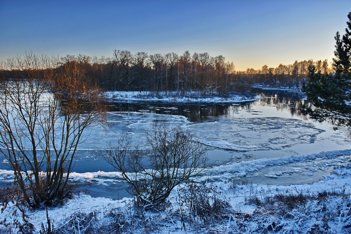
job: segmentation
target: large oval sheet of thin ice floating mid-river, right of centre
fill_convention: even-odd
[[[236,151],[283,149],[313,143],[324,132],[312,123],[286,118],[237,118],[191,125],[206,145]]]

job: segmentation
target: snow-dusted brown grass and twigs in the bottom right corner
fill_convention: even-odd
[[[336,190],[279,192],[259,200],[250,227],[253,233],[349,233],[350,202]]]

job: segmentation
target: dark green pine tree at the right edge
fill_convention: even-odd
[[[346,33],[341,37],[337,32],[334,37],[335,73],[316,73],[316,67],[310,64],[309,83],[303,85],[313,106],[303,106],[302,112],[320,122],[331,120],[337,126],[351,126],[351,12],[347,17]]]

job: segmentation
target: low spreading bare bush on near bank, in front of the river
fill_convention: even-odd
[[[107,150],[107,161],[130,183],[127,191],[145,210],[160,205],[172,189],[208,168],[206,147],[195,135],[167,123],[154,123],[146,132],[146,146],[132,146],[127,135]]]

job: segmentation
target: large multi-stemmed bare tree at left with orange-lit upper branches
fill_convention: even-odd
[[[0,146],[27,204],[65,196],[84,130],[106,121],[88,57],[16,57],[17,75],[0,83]],[[42,172],[45,170],[46,172]]]

